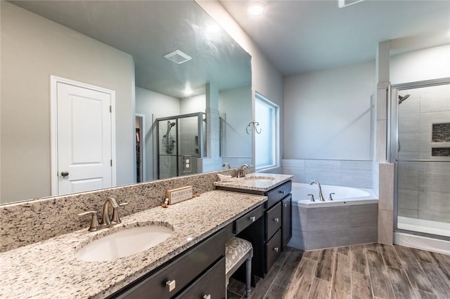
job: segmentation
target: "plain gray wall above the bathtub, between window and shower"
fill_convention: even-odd
[[[283,159],[371,160],[375,63],[285,78]]]

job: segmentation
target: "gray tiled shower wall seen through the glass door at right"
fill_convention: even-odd
[[[398,214],[450,222],[450,157],[432,149],[450,147],[450,86],[401,91],[411,96],[399,105]],[[436,152],[436,151],[435,151]],[[433,161],[402,161],[411,159]]]

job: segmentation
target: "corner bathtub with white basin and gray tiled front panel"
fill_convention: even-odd
[[[373,243],[378,240],[378,198],[370,189],[293,183],[293,237],[289,246],[305,251]],[[333,201],[329,201],[330,193]],[[314,194],[311,201],[307,194]]]

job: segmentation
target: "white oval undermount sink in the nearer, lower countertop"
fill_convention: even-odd
[[[169,238],[174,231],[165,226],[147,225],[120,230],[96,239],[75,252],[75,258],[104,262],[146,251]]]

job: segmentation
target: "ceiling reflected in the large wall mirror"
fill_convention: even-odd
[[[10,1],[133,56],[136,86],[185,98],[250,86],[250,55],[194,1]],[[218,31],[210,32],[210,28]],[[177,65],[163,56],[181,50]]]

